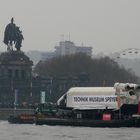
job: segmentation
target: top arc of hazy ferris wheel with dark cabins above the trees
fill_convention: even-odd
[[[116,58],[140,59],[140,49],[128,48],[117,52]]]

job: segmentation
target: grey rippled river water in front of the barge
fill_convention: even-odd
[[[0,121],[0,140],[140,140],[140,128],[37,126]]]

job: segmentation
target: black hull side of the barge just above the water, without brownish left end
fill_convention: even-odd
[[[85,127],[140,127],[140,120],[77,120],[77,119],[38,119],[36,125],[63,125]]]

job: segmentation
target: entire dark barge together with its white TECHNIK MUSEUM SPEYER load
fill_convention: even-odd
[[[71,88],[57,107],[42,104],[32,117],[16,116],[10,123],[87,127],[140,127],[140,86]],[[131,101],[131,102],[129,102]]]

